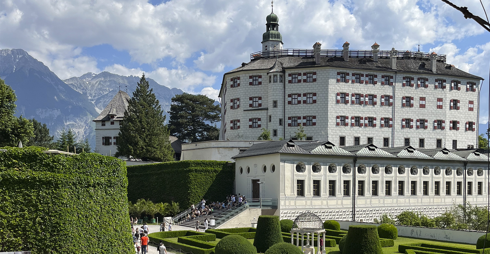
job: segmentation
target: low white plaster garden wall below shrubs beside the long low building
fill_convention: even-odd
[[[357,222],[357,221],[338,221],[340,228],[348,230],[351,225],[374,225],[380,224]],[[448,241],[456,243],[469,243],[476,244],[476,240],[485,234],[483,231],[467,231],[467,230],[451,230],[451,229],[437,229],[437,228],[424,228],[394,225],[398,230],[398,236],[423,238],[439,241]]]

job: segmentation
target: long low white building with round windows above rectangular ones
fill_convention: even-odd
[[[321,219],[367,222],[403,210],[433,217],[455,204],[488,202],[488,157],[475,149],[296,142],[253,144],[235,156],[236,193],[277,200],[281,219],[305,210]]]

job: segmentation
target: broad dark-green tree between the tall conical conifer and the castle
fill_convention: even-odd
[[[188,142],[218,140],[221,107],[202,94],[177,94],[170,105],[169,129],[172,136]],[[208,124],[209,123],[209,124]]]

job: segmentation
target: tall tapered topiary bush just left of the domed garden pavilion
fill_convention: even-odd
[[[259,216],[259,219],[257,220],[257,230],[255,231],[255,240],[253,241],[253,245],[257,248],[257,252],[265,253],[270,246],[282,242],[283,239],[279,216]]]

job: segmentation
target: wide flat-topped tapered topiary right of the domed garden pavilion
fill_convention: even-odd
[[[379,242],[378,228],[371,225],[349,226],[342,253],[383,254]]]

